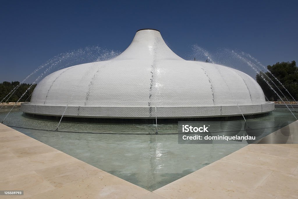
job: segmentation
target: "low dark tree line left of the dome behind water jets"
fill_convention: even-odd
[[[19,81],[12,81],[12,82],[4,81],[4,82],[0,83],[0,102],[5,102],[5,101],[7,101],[7,102],[17,102],[21,98],[21,96],[24,94],[24,92],[26,92],[26,90],[31,85],[32,84],[25,84],[25,83],[20,84]],[[36,84],[33,84],[32,87],[20,99],[20,102],[30,101],[31,100],[31,94],[32,94],[35,87],[36,87]],[[10,94],[7,96],[8,93],[10,93]],[[10,98],[9,98],[9,96],[10,96]]]

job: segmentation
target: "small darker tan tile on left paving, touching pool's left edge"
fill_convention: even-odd
[[[49,152],[56,152],[57,149],[54,149],[46,144],[38,144],[22,148],[10,148],[10,151],[18,158],[25,158],[33,155],[41,155]]]

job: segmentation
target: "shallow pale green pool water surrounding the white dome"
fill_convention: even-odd
[[[5,115],[0,113],[0,119]],[[291,123],[293,116],[285,109],[277,108],[268,116],[248,121]],[[61,122],[61,130],[66,132],[57,132],[47,131],[55,130],[57,121],[26,118],[20,111],[11,112],[4,124],[14,126],[14,129],[32,138],[150,191],[247,145],[178,144],[178,135],[173,134],[177,132],[177,124],[159,124],[159,135],[148,135],[148,132],[155,132],[155,126],[151,124]],[[218,125],[221,128],[225,126]]]

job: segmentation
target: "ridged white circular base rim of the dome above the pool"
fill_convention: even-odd
[[[240,111],[241,110],[241,111]],[[254,115],[274,110],[273,102],[263,104],[244,104],[238,106],[204,106],[204,107],[71,107],[21,104],[21,111],[34,115],[48,115],[75,118],[127,118],[153,119],[157,118],[210,118]]]

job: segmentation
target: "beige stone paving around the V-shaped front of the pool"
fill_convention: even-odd
[[[298,121],[287,128],[298,134]],[[294,134],[287,143],[298,143]],[[291,199],[298,198],[298,144],[250,144],[150,192],[0,124],[0,176],[0,190],[24,190],[0,196],[9,199]]]

